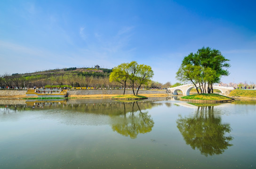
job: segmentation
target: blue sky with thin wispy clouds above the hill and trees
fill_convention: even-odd
[[[224,83],[256,83],[254,0],[1,0],[0,75],[150,65],[176,83],[184,56],[202,46],[230,59]]]

